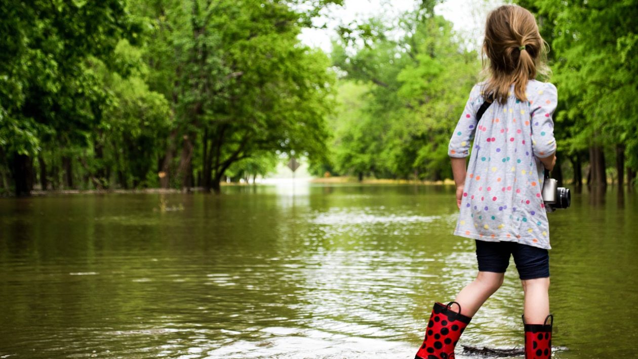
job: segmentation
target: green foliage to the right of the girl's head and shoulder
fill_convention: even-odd
[[[637,170],[638,23],[633,19],[638,1],[518,3],[542,19],[541,31],[553,50],[560,96],[556,122],[564,134],[559,149],[572,155],[591,147],[613,153],[617,147],[628,168]]]

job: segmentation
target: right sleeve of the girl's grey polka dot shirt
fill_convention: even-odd
[[[558,103],[558,92],[556,86],[545,83],[531,95],[531,148],[537,158],[549,157],[556,152],[552,116]]]

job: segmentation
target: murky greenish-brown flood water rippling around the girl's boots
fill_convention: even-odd
[[[446,186],[0,199],[0,358],[414,358],[477,274]],[[638,199],[550,214],[554,358],[638,357]],[[514,261],[461,344],[523,346]],[[521,357],[519,357],[521,358]]]

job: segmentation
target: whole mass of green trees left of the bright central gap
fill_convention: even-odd
[[[297,35],[341,3],[1,0],[3,186],[218,191],[280,153],[324,163],[334,76]]]

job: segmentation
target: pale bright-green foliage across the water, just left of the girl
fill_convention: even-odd
[[[427,8],[401,18],[406,35],[398,41],[376,36],[387,30],[371,20],[358,26],[375,30],[360,32],[365,41],[354,54],[347,50],[357,43],[352,32],[336,43],[333,61],[347,73],[344,102],[358,102],[343,106],[339,115],[345,124],[334,142],[339,172],[421,179],[450,175],[447,142],[477,80],[478,60],[475,52],[463,50],[452,24]],[[348,81],[367,91],[348,93],[354,86]]]

